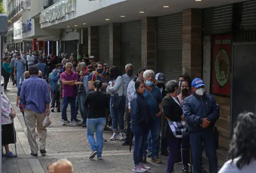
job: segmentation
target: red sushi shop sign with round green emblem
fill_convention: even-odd
[[[230,35],[212,36],[212,89],[217,95],[229,95],[231,37]]]

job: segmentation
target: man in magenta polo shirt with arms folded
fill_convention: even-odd
[[[75,102],[76,102],[76,85],[75,83],[78,81],[78,74],[72,71],[72,63],[68,62],[65,65],[65,71],[61,73],[61,82],[62,82],[62,90],[63,90],[63,109],[62,109],[62,120],[61,125],[66,125],[67,121],[67,106],[70,102],[70,109],[71,109],[71,125],[77,125],[76,122],[76,109],[75,109]]]

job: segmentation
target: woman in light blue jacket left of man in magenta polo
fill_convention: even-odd
[[[56,69],[53,69],[51,73],[51,82],[50,89],[52,94],[52,105],[51,112],[57,109],[57,112],[60,112],[60,74],[61,74],[62,65],[57,64]],[[55,107],[56,106],[56,107]]]

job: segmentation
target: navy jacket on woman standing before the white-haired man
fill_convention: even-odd
[[[130,103],[132,125],[146,126],[152,122],[150,107],[143,95],[136,92]]]

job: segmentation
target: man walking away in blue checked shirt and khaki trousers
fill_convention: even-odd
[[[50,92],[46,80],[38,78],[38,68],[30,66],[28,70],[30,78],[24,80],[21,86],[19,103],[23,104],[27,123],[27,139],[31,149],[31,155],[37,156],[38,146],[36,141],[35,122],[37,121],[37,133],[39,136],[40,153],[46,155],[47,130],[42,125],[46,116],[50,114]]]

